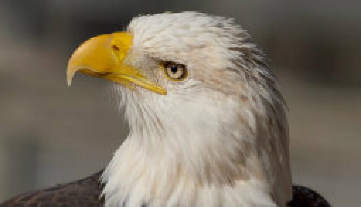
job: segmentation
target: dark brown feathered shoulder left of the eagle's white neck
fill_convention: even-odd
[[[0,207],[103,207],[99,178],[102,171],[64,185],[20,195]]]

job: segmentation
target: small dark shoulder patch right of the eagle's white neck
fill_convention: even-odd
[[[292,194],[289,207],[331,207],[325,198],[307,187],[293,185]]]

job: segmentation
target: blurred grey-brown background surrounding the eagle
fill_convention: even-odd
[[[67,60],[138,14],[234,17],[268,53],[289,104],[293,182],[360,207],[361,1],[0,1],[0,202],[103,168],[127,133],[110,83]]]

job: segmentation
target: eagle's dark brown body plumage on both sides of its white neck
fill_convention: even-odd
[[[99,184],[102,172],[69,184],[20,195],[0,204],[0,207],[103,207]],[[294,185],[292,193],[289,207],[330,207],[321,195],[307,187]]]

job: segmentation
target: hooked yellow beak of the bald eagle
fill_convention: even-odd
[[[139,69],[124,63],[132,42],[130,33],[118,32],[99,35],[81,44],[68,63],[68,86],[74,74],[81,72],[121,83],[131,89],[136,85],[165,95],[167,92],[163,87],[145,77]]]

